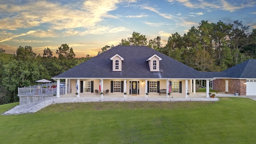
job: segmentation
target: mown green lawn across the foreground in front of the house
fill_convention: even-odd
[[[1,115],[0,143],[255,144],[255,109],[247,98],[53,104],[35,114]]]

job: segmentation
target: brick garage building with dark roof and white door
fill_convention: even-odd
[[[215,78],[213,90],[242,96],[256,95],[256,60],[246,60],[211,76]]]

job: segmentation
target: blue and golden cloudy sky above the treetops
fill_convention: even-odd
[[[12,54],[32,46],[56,55],[61,44],[76,57],[97,55],[106,45],[118,45],[132,32],[162,44],[175,32],[184,35],[201,20],[232,23],[241,20],[256,28],[255,0],[1,0],[0,48]]]

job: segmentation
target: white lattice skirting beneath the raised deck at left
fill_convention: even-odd
[[[20,96],[20,105],[31,104],[50,97],[52,96]]]

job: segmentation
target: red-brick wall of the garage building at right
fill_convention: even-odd
[[[217,90],[219,92],[225,92],[225,80],[228,80],[228,93],[234,94],[238,93],[238,95],[245,96],[246,95],[246,80],[238,80],[238,79],[216,79],[213,80],[213,90]]]

